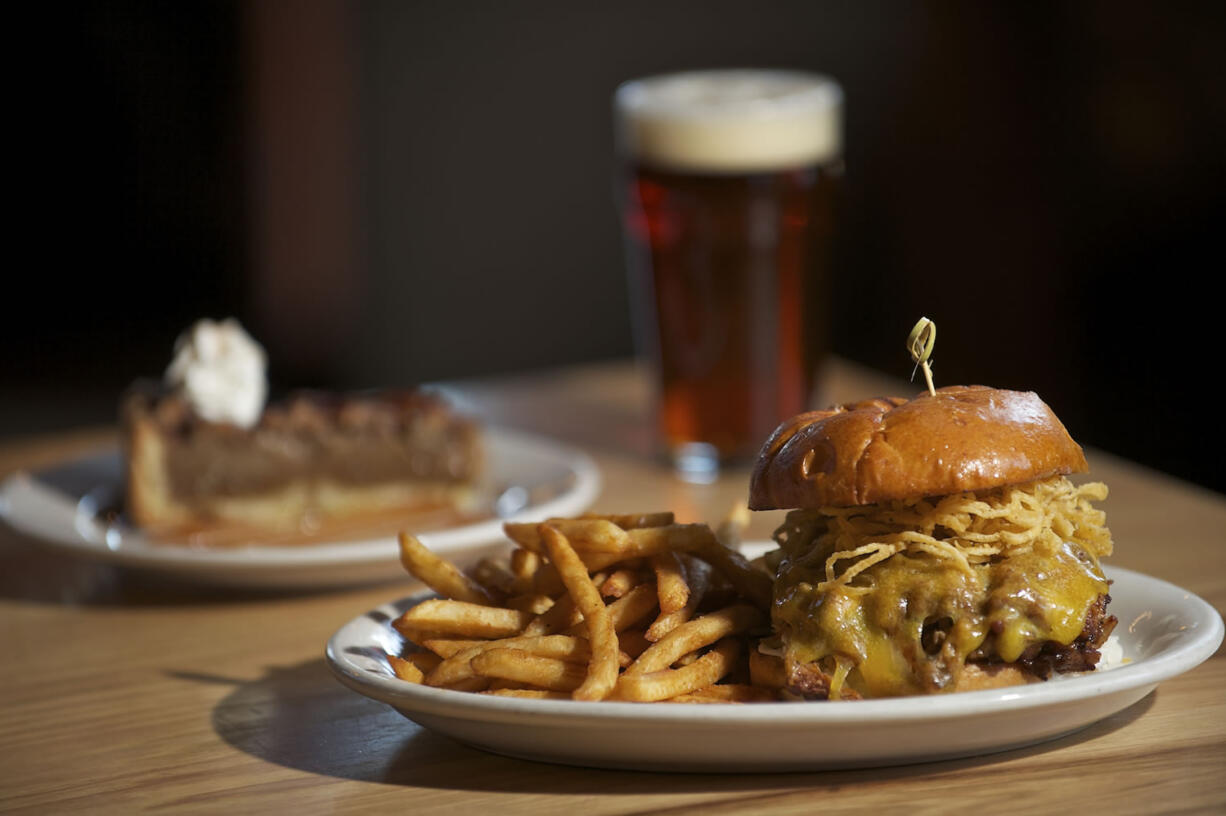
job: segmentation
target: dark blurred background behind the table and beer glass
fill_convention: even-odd
[[[0,434],[110,421],[237,315],[275,385],[633,352],[609,94],[706,66],[846,92],[835,350],[1040,392],[1226,491],[1213,436],[1226,5],[96,2],[12,113]],[[28,97],[28,98],[27,98]],[[1209,431],[1206,434],[1206,430]]]

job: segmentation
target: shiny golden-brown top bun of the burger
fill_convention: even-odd
[[[749,507],[873,505],[1086,469],[1081,447],[1038,395],[950,386],[788,419],[758,456]]]

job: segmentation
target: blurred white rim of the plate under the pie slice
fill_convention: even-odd
[[[596,461],[584,450],[538,434],[495,425],[485,426],[489,445],[532,450],[535,455],[552,459],[559,467],[574,474],[574,484],[557,496],[539,505],[516,511],[505,518],[485,518],[478,522],[451,528],[430,531],[421,534],[423,542],[440,554],[456,554],[468,549],[497,543],[501,538],[501,526],[508,521],[535,518],[537,516],[560,516],[579,512],[591,506],[603,488],[603,477]],[[363,566],[395,561],[395,537],[336,539],[304,546],[243,546],[233,549],[205,549],[175,545],[174,543],[152,545],[147,543],[130,546],[110,548],[104,540],[91,540],[83,533],[72,537],[48,537],[26,523],[20,510],[15,510],[15,496],[20,500],[25,490],[43,490],[59,493],[54,486],[38,478],[39,472],[69,467],[102,457],[121,457],[118,445],[93,448],[75,456],[44,463],[37,470],[22,469],[11,473],[0,482],[0,519],[12,529],[44,544],[134,567],[170,570],[180,573],[194,569],[243,572],[271,572],[286,569],[319,569],[325,566]],[[72,502],[71,496],[64,496]],[[76,502],[71,521],[77,529]]]

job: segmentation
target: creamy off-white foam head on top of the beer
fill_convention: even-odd
[[[614,94],[625,156],[691,173],[808,167],[842,151],[842,89],[797,71],[669,74]]]

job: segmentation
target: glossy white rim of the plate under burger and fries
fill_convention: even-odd
[[[1114,581],[1148,584],[1148,593],[1160,594],[1167,603],[1179,600],[1187,605],[1189,621],[1195,630],[1173,646],[1162,647],[1157,654],[1112,668],[1107,671],[1084,673],[1060,678],[1052,682],[964,691],[950,695],[895,697],[884,700],[846,701],[836,705],[807,706],[796,702],[761,702],[744,706],[650,706],[635,702],[576,702],[570,700],[524,700],[474,695],[447,689],[432,689],[400,680],[395,676],[375,676],[353,664],[345,653],[352,646],[346,632],[374,622],[374,615],[383,616],[390,627],[390,610],[416,598],[429,597],[418,592],[406,598],[381,604],[342,625],[329,638],[324,649],[329,668],[346,686],[397,711],[412,708],[423,713],[451,716],[462,719],[482,719],[484,714],[498,720],[517,720],[531,716],[536,722],[577,723],[580,720],[619,724],[716,724],[737,723],[770,724],[771,727],[812,728],[820,724],[879,724],[890,722],[922,723],[976,717],[984,712],[999,712],[1007,706],[1011,711],[1026,711],[1052,705],[1075,703],[1089,697],[1152,689],[1159,682],[1188,671],[1216,652],[1224,637],[1224,622],[1217,610],[1203,598],[1168,581],[1156,578],[1125,567],[1105,567],[1107,577]],[[1121,621],[1122,625],[1127,624]],[[398,635],[396,635],[400,637]],[[1161,659],[1159,659],[1161,658]],[[407,706],[406,703],[417,703]],[[779,714],[787,712],[787,718]],[[777,720],[777,722],[776,722]]]

